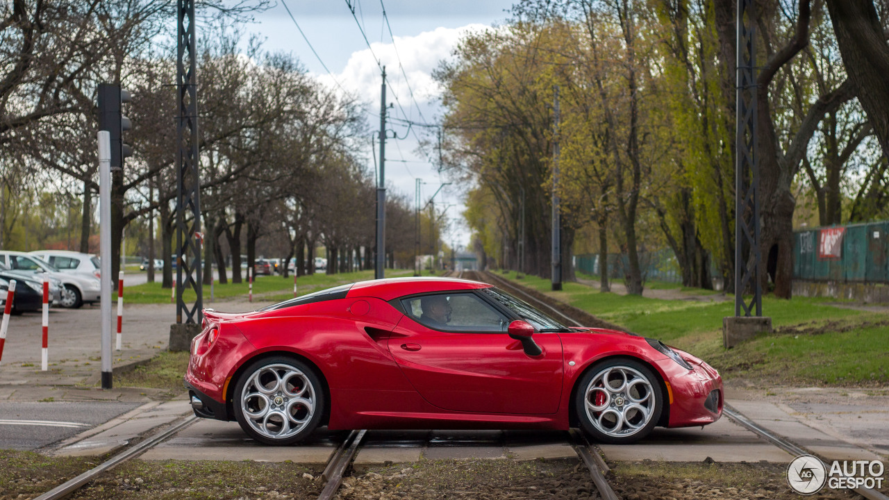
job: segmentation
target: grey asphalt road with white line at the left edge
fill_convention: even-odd
[[[0,402],[0,449],[37,449],[105,423],[140,403]]]

